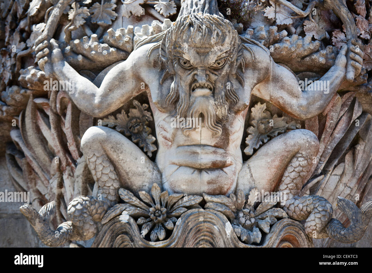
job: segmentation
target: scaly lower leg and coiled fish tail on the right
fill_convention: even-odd
[[[351,221],[350,227],[345,228],[339,220],[331,219],[333,208],[327,199],[317,195],[299,197],[309,163],[310,160],[301,153],[297,153],[289,162],[278,186],[287,197],[285,204],[282,203],[280,207],[289,218],[297,221],[306,220],[305,232],[309,237],[330,237],[342,243],[360,240],[372,217],[372,202],[364,204],[359,209],[352,201],[338,197],[337,204]]]

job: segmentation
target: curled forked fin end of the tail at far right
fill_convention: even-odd
[[[372,201],[365,203],[359,209],[352,201],[338,196],[337,205],[346,214],[351,224],[348,228],[345,228],[339,220],[332,218],[325,227],[328,236],[341,243],[359,241],[363,237],[372,217]]]

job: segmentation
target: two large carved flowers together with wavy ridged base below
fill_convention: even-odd
[[[154,183],[151,196],[139,192],[142,202],[120,189],[124,204],[105,214],[92,247],[312,247],[303,225],[273,208],[276,202],[261,202],[254,209],[256,192],[253,189],[247,200],[242,191],[230,198],[206,194],[202,198],[168,195]],[[198,205],[202,199],[204,209]],[[246,214],[251,218],[246,220]]]

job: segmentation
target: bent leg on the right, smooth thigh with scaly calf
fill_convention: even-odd
[[[286,184],[286,188],[292,188],[293,192],[301,190],[312,158],[318,150],[318,139],[311,131],[297,129],[281,134],[244,162],[237,189],[243,190],[244,194],[248,194],[253,187],[259,191],[273,192],[284,172],[281,184]]]

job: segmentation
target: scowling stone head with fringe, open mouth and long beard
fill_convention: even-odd
[[[228,119],[229,102],[237,99],[228,77],[237,69],[238,42],[228,20],[201,13],[180,18],[167,35],[167,69],[174,81],[166,103],[178,99],[177,115],[202,117],[216,135]]]

